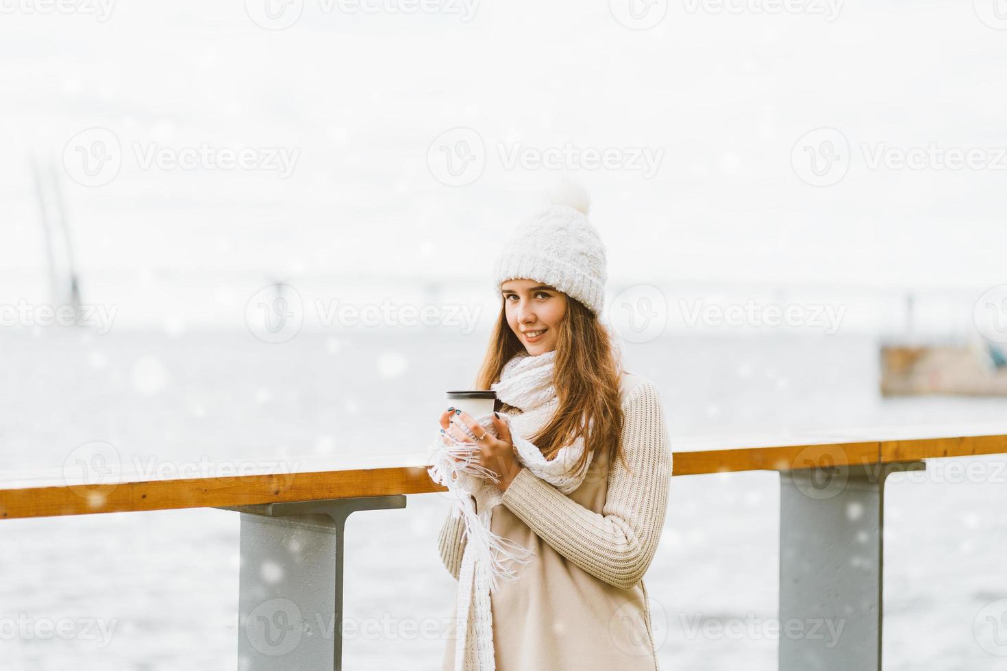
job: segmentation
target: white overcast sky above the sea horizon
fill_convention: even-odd
[[[881,4],[23,0],[0,24],[0,284],[44,279],[32,149],[85,278],[478,280],[559,157],[613,279],[999,283],[1007,25]]]

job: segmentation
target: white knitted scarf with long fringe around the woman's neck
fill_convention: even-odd
[[[511,430],[517,458],[537,477],[554,485],[564,494],[577,489],[590,467],[590,456],[580,473],[573,474],[573,467],[584,452],[584,440],[578,436],[572,444],[560,449],[556,457],[546,461],[542,452],[526,437],[534,436],[546,426],[558,406],[553,370],[556,350],[532,356],[522,352],[505,364],[500,381],[490,385],[496,397],[520,408],[516,414],[500,412],[500,418]],[[485,431],[496,436],[491,414],[474,417]],[[474,439],[464,425],[457,426]],[[497,578],[517,579],[518,575],[507,562],[531,563],[531,550],[502,538],[490,530],[493,508],[503,499],[503,493],[491,482],[486,468],[472,461],[478,458],[477,444],[461,443],[449,437],[451,445],[441,441],[438,432],[430,448],[427,471],[430,478],[448,488],[454,516],[463,515],[468,539],[458,573],[457,638],[455,640],[455,671],[493,671],[492,613],[490,591],[498,586]],[[452,457],[462,461],[455,462]],[[452,478],[457,476],[456,480]],[[471,496],[475,497],[478,513],[473,509]]]

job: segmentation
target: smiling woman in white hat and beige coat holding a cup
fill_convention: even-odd
[[[656,386],[621,369],[598,320],[605,251],[587,209],[583,193],[554,199],[495,264],[502,306],[476,388],[499,412],[440,415],[449,459],[431,476],[463,494],[439,537],[459,580],[445,671],[659,668],[642,576],[672,454]]]

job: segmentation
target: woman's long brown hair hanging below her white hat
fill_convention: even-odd
[[[546,460],[551,460],[564,445],[584,436],[584,454],[573,465],[573,473],[580,473],[590,455],[597,458],[607,454],[609,465],[616,458],[625,465],[619,445],[624,417],[619,400],[622,361],[613,349],[617,345],[608,329],[582,303],[570,296],[566,301],[566,314],[557,327],[553,369],[559,405],[538,434],[525,438],[539,447]],[[499,380],[503,365],[525,351],[508,324],[507,304],[501,302],[475,388],[488,389]],[[503,409],[511,408],[500,402]]]

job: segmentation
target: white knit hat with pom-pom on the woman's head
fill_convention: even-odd
[[[520,223],[493,265],[496,291],[508,280],[535,280],[583,303],[595,317],[605,306],[605,245],[587,218],[590,198],[577,184],[554,188],[551,204]]]

